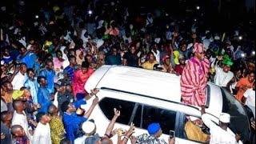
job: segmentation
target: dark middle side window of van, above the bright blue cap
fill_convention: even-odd
[[[143,108],[143,110],[142,110]],[[142,126],[141,123],[141,113],[142,115]],[[142,129],[147,129],[147,126],[151,122],[159,122],[162,127],[163,134],[170,134],[170,130],[175,129],[176,111],[163,110],[154,106],[139,106],[134,117],[134,124]]]

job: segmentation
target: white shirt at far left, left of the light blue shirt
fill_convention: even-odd
[[[26,82],[26,79],[27,79],[27,78],[28,78],[28,77],[26,76],[26,73],[23,75],[23,74],[21,73],[21,71],[19,71],[18,74],[16,74],[16,75],[14,76],[14,79],[13,79],[13,81],[11,82],[11,84],[13,85],[14,90],[20,90],[20,88],[21,88],[22,86],[24,86],[24,83]]]

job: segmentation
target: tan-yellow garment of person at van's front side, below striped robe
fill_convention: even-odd
[[[198,142],[206,142],[208,134],[202,132],[199,126],[194,125],[193,122],[187,121],[184,127],[186,131],[186,137],[190,140]]]

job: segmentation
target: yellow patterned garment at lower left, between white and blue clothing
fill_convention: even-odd
[[[50,116],[50,137],[53,144],[60,144],[63,138],[60,135],[64,132],[62,119]]]

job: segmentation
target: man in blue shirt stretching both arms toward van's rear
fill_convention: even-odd
[[[71,102],[63,102],[61,109],[64,112],[63,114],[63,124],[66,130],[66,138],[69,138],[72,143],[74,143],[74,139],[78,138],[76,134],[79,130],[79,126],[82,122],[85,122],[89,117],[94,107],[98,104],[98,97],[94,98],[92,105],[89,110],[83,114],[83,116],[78,116],[78,114],[82,114],[83,110],[78,108],[76,111],[74,105]]]

